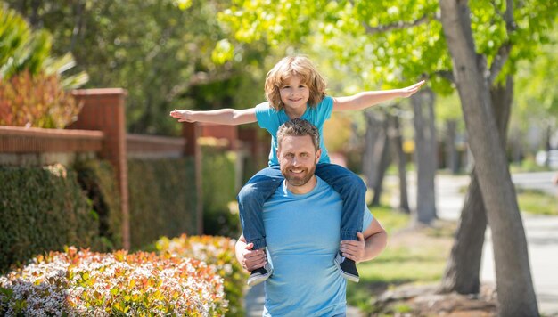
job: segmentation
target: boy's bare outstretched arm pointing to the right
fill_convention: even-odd
[[[363,110],[382,102],[395,98],[406,98],[418,92],[424,80],[401,89],[379,90],[357,93],[347,97],[333,98],[333,111]]]

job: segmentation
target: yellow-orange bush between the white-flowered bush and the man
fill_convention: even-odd
[[[235,240],[225,237],[191,236],[185,234],[169,240],[163,237],[156,242],[160,254],[191,257],[201,260],[225,280],[225,298],[229,303],[227,316],[244,316],[242,289],[247,275],[234,255]]]

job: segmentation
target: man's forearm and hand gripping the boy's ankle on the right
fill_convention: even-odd
[[[359,263],[370,261],[379,256],[388,243],[388,233],[376,218],[366,228],[365,232],[358,232],[358,241],[342,240],[339,248],[343,256]]]

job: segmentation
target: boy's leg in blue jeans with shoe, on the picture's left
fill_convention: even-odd
[[[283,175],[279,167],[267,167],[252,176],[238,193],[242,233],[248,243],[254,244],[254,250],[266,248],[263,206],[282,181]],[[250,273],[248,285],[254,286],[267,280],[272,272],[273,267],[268,261],[266,266]]]

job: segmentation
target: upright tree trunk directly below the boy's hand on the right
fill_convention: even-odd
[[[436,219],[434,177],[436,159],[436,127],[434,125],[434,94],[429,89],[414,93],[414,153],[416,161],[416,221],[431,224]]]

